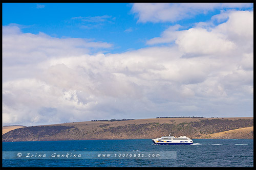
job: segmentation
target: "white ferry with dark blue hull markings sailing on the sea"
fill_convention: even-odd
[[[160,138],[152,139],[155,144],[193,144],[193,140],[186,137],[162,136]]]

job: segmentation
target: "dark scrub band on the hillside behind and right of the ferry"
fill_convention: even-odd
[[[147,123],[147,124],[130,124],[129,126],[109,127],[103,129],[103,132],[111,132],[118,134],[122,132],[132,132],[133,134],[143,135],[149,134],[153,130],[165,133],[166,135],[171,133],[174,135],[196,135],[199,134],[211,134],[218,133],[233,129],[245,128],[253,126],[253,119],[200,119],[200,121],[180,123],[176,124],[159,124],[159,123]]]

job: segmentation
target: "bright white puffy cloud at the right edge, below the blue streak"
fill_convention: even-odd
[[[171,26],[160,37],[148,40],[147,44],[175,42],[185,57],[252,52],[253,11],[228,11],[221,15],[227,20],[218,26],[201,22],[195,28],[181,31],[178,30],[180,25]],[[213,16],[212,20],[219,16]]]

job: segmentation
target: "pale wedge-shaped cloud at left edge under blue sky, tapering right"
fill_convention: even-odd
[[[54,38],[44,33],[22,33],[18,27],[3,26],[3,63],[38,63],[49,57],[82,55],[112,44],[82,38]]]

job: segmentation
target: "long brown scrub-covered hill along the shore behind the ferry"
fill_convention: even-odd
[[[230,118],[151,118],[125,121],[91,121],[46,126],[32,126],[3,134],[3,141],[153,139],[168,135],[190,138],[216,138],[217,133],[253,127],[253,117]],[[229,133],[229,132],[228,132]],[[233,137],[240,131],[232,131]],[[242,138],[253,139],[253,128]]]

